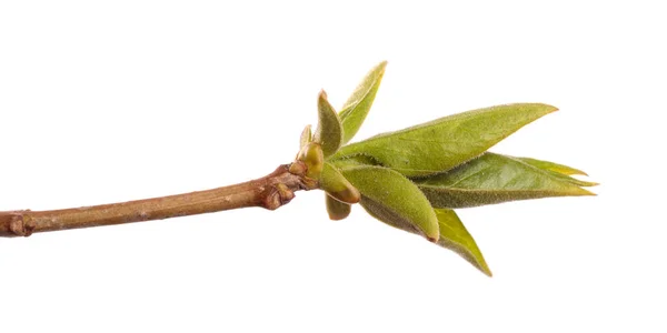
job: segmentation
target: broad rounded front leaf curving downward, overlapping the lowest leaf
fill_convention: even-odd
[[[344,169],[342,175],[361,192],[361,203],[377,208],[436,242],[439,235],[438,219],[428,199],[407,178],[390,169],[361,165]],[[381,221],[385,221],[380,219]]]

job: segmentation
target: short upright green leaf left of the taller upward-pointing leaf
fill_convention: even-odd
[[[342,145],[342,123],[322,90],[317,100],[319,122],[315,130],[313,141],[322,147],[325,158],[334,154]]]

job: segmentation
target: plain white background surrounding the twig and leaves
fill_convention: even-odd
[[[464,2],[464,1],[461,1]],[[595,198],[461,210],[492,279],[321,192],[276,212],[0,239],[2,332],[665,332],[659,1],[2,1],[0,210],[261,176],[389,65],[357,139],[475,108],[561,111],[492,151]]]

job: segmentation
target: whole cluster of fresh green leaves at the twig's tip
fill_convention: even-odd
[[[546,196],[591,195],[596,183],[573,178],[580,170],[487,152],[521,127],[557,109],[519,103],[440,118],[347,144],[366,119],[385,73],[375,67],[340,112],[322,91],[319,123],[301,134],[297,160],[326,192],[329,216],[341,220],[351,204],[376,219],[452,250],[487,275],[491,272],[454,209]],[[347,145],[346,145],[347,144]]]

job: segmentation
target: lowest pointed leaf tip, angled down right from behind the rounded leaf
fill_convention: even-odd
[[[481,251],[459,216],[452,210],[436,209],[435,211],[440,225],[438,245],[458,253],[482,273],[491,276],[491,270],[484,260]]]

